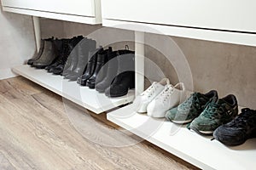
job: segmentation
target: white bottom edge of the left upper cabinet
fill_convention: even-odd
[[[22,9],[22,8],[11,8],[11,7],[4,7],[3,11],[17,13],[17,14],[27,14],[37,17],[49,18],[54,20],[66,20],[70,22],[78,22],[83,24],[90,24],[90,25],[99,25],[102,24],[101,18],[97,18],[95,16],[79,16],[73,14],[57,14],[51,12],[44,12],[44,11],[37,11],[32,9]]]

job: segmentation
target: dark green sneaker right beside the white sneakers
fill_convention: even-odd
[[[185,100],[182,104],[166,111],[166,119],[178,124],[191,122],[204,111],[212,98],[218,99],[216,90],[212,90],[207,94],[191,94],[189,99]]]

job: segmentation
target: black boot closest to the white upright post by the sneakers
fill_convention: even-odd
[[[128,90],[135,87],[135,55],[130,50],[119,50],[118,76],[113,83],[105,90],[108,97],[120,97],[128,93]]]

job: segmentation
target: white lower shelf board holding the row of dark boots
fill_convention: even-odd
[[[76,82],[69,82],[61,76],[52,75],[45,70],[38,70],[29,65],[16,66],[13,71],[96,114],[119,105],[125,105],[134,99],[134,90],[130,90],[123,97],[108,98],[105,94],[97,93],[95,89],[81,87]]]

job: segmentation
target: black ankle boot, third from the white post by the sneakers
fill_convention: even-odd
[[[88,86],[89,88],[95,88],[96,81],[100,82],[100,80],[102,80],[102,78],[104,77],[103,74],[105,71],[101,71],[101,70],[102,70],[102,67],[108,62],[109,51],[112,51],[112,48],[109,47],[108,49],[105,49],[102,52],[99,52],[97,56],[96,70],[94,71],[94,74],[92,75],[92,77],[90,77],[90,79],[86,82],[86,86]]]

